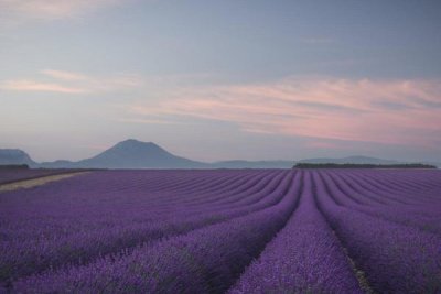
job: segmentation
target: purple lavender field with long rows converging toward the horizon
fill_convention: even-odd
[[[96,171],[0,193],[1,292],[441,293],[441,173]]]

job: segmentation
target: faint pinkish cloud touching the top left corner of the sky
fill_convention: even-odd
[[[60,20],[122,2],[122,0],[0,0],[0,10],[10,19]]]

